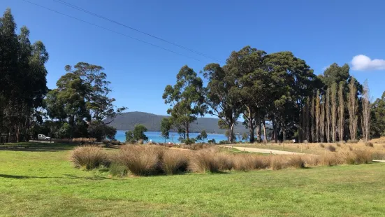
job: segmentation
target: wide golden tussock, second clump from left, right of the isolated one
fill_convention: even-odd
[[[161,174],[161,159],[164,154],[161,146],[126,145],[120,148],[118,159],[129,171],[137,176]]]

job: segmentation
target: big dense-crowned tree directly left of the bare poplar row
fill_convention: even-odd
[[[298,129],[300,111],[317,87],[317,77],[303,59],[295,57],[291,52],[276,52],[266,55],[264,65],[270,79],[268,100],[273,103],[268,108],[269,119],[273,123],[275,138],[278,128],[283,139],[289,129]]]

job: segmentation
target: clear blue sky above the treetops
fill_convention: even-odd
[[[200,71],[215,62],[52,0],[29,1],[201,60],[175,55],[22,0],[0,1],[2,10],[12,9],[18,27],[29,27],[31,41],[45,43],[50,54],[46,64],[50,88],[64,75],[66,64],[98,64],[112,82],[117,106],[166,114],[168,106],[161,95],[166,85],[175,83],[180,67],[187,64]],[[385,2],[380,0],[64,1],[221,62],[245,45],[269,53],[290,50],[305,59],[315,73],[322,73],[333,62],[351,64],[354,59],[356,70],[351,69],[351,74],[361,83],[368,78],[372,96],[380,97],[385,90]]]

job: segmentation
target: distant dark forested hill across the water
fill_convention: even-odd
[[[143,124],[147,127],[148,131],[160,131],[162,118],[169,118],[169,116],[158,116],[152,113],[133,111],[117,116],[110,123],[110,126],[116,127],[117,130],[133,130],[136,124]],[[191,124],[191,132],[201,132],[201,130],[218,134],[223,134],[226,131],[219,129],[217,118],[198,118],[195,123]],[[248,130],[245,128],[245,125],[238,122],[238,125],[235,125],[234,132],[242,133],[248,132]]]

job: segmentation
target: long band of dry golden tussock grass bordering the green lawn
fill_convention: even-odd
[[[336,148],[335,152],[326,151],[326,153],[324,152],[321,155],[256,155],[251,153],[224,153],[215,146],[193,151],[154,145],[125,145],[120,148],[117,155],[110,156],[108,159],[111,162],[117,163],[117,165],[123,165],[126,171],[131,172],[131,174],[153,176],[158,174],[178,174],[188,171],[205,173],[228,170],[300,169],[304,167],[317,167],[319,165],[359,165],[370,163],[373,159],[382,160],[385,158],[385,151],[378,151],[375,148],[359,146],[350,150],[348,147],[350,146],[342,145],[341,148]],[[324,148],[325,150],[327,148]],[[76,148],[73,153],[76,153],[76,155],[73,154],[73,156],[76,156],[73,159],[76,159],[77,165],[87,169],[98,167],[107,158],[106,154],[101,151],[101,148],[97,147],[80,147]],[[99,156],[102,156],[102,158]],[[102,160],[96,161],[96,163],[92,161],[99,158]],[[75,162],[75,160],[73,161]],[[118,169],[121,168],[115,168],[115,170]]]

